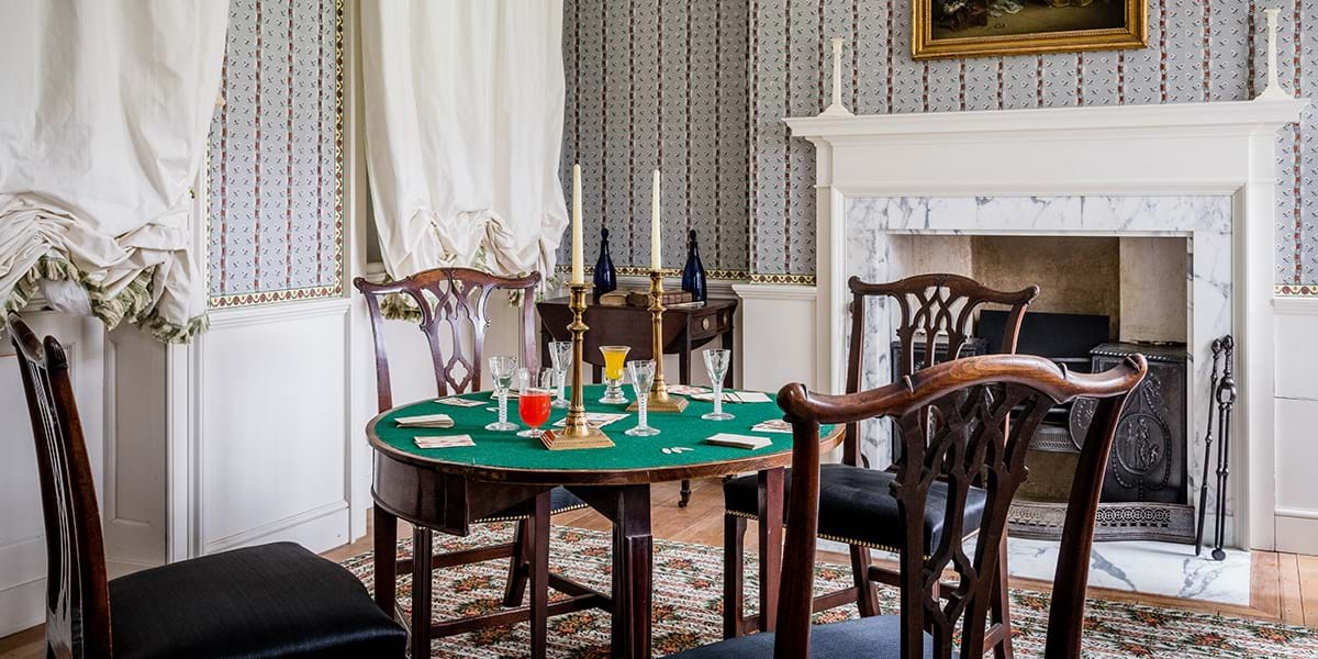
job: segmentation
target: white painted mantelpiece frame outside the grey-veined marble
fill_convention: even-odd
[[[1236,544],[1271,548],[1276,514],[1273,162],[1276,132],[1298,121],[1307,103],[1267,99],[784,119],[793,137],[816,146],[818,382],[834,391],[844,385],[846,225],[854,200],[1230,196],[1234,257],[1226,275],[1234,282],[1230,316],[1242,391],[1230,494],[1247,503],[1236,506],[1231,531]],[[1120,231],[1081,223],[1068,225],[1065,233]],[[1061,228],[1021,225],[992,232],[1049,235]],[[1147,233],[1153,232],[1156,227]]]

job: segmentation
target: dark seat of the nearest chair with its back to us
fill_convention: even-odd
[[[811,627],[812,659],[899,659],[902,617],[870,618]],[[696,647],[670,659],[766,659],[774,656],[774,634],[751,634]],[[933,639],[924,635],[924,656],[933,658]],[[956,652],[952,656],[957,656]]]

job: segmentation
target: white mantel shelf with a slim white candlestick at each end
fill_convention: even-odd
[[[988,109],[908,115],[789,117],[783,121],[796,137],[833,144],[888,140],[898,136],[1075,130],[1272,130],[1296,121],[1309,99],[1169,103],[1156,105],[1087,105],[1074,108]]]

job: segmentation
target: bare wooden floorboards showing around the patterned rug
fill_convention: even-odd
[[[676,482],[655,486],[651,496],[655,538],[708,544],[712,547],[722,546],[724,515],[721,481],[697,481],[692,488],[691,505],[685,509],[677,507],[677,497],[679,489]],[[558,515],[555,523],[596,531],[609,530],[608,521],[589,509]],[[406,538],[410,532],[406,523],[399,525],[399,538]],[[747,551],[754,551],[755,548],[754,522],[749,525],[746,532],[746,548]],[[337,561],[365,551],[370,551],[369,532],[366,538],[328,551],[324,556]],[[818,560],[847,563],[845,555],[832,552],[821,552]],[[1048,590],[1050,588],[1048,583],[1027,579],[1012,579],[1011,585],[1014,588],[1035,590]],[[1119,602],[1144,604],[1219,616],[1284,621],[1318,627],[1318,556],[1297,556],[1294,554],[1267,551],[1253,552],[1249,575],[1249,606],[1201,602],[1102,588],[1090,588],[1089,594],[1090,597]],[[0,659],[41,659],[42,656],[41,627],[33,627],[11,637],[0,638]]]

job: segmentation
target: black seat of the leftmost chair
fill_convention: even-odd
[[[402,658],[407,634],[347,569],[294,543],[109,583],[116,659]]]

